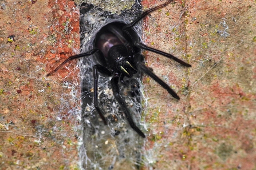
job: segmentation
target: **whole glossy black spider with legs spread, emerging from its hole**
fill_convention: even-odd
[[[98,89],[98,73],[105,76],[113,76],[111,79],[111,88],[115,99],[120,104],[131,128],[134,129],[141,137],[145,137],[144,133],[136,126],[132,119],[131,111],[128,109],[127,104],[125,104],[124,99],[121,97],[119,82],[125,84],[123,80],[125,77],[132,78],[132,76],[140,70],[159,83],[160,86],[165,88],[175,99],[180,99],[176,92],[174,92],[174,90],[172,90],[168,84],[164,83],[163,80],[153,74],[151,69],[145,66],[143,62],[144,56],[141,55],[141,49],[166,56],[167,58],[173,59],[186,67],[191,67],[191,65],[183,62],[183,60],[180,60],[171,54],[156,50],[155,48],[151,48],[145,46],[143,43],[140,43],[139,35],[137,35],[137,33],[132,29],[132,27],[136,25],[137,22],[141,21],[141,19],[143,19],[146,15],[156,9],[160,9],[161,7],[168,5],[168,3],[171,2],[172,0],[167,1],[162,5],[145,11],[129,24],[121,21],[108,23],[99,31],[99,33],[96,34],[96,38],[94,39],[94,48],[92,50],[82,54],[70,56],[62,64],[60,64],[60,66],[46,76],[52,75],[69,60],[93,55],[94,60],[97,63],[93,66],[93,103],[104,124],[107,125],[107,120],[104,117],[103,111],[101,111],[100,107],[98,106],[98,91],[95,90]]]

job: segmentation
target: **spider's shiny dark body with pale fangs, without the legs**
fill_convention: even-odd
[[[133,30],[128,34],[124,33],[120,29],[124,26],[125,23],[118,21],[108,23],[96,35],[94,46],[102,52],[103,55],[99,56],[104,58],[99,57],[99,60],[101,63],[107,63],[105,67],[121,73],[122,77],[131,78],[137,72],[133,55],[140,52],[139,48],[133,46],[133,41],[134,39],[136,39],[135,42],[139,41],[139,37]]]

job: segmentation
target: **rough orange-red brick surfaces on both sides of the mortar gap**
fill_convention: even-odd
[[[250,0],[180,0],[144,20],[148,45],[192,64],[145,53],[181,100],[144,78],[144,169],[255,168],[255,10]],[[79,71],[71,64],[45,75],[78,53],[78,9],[72,1],[6,0],[0,16],[1,168],[75,169]]]

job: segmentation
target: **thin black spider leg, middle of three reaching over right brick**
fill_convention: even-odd
[[[160,51],[160,50],[157,50],[155,48],[148,47],[148,46],[146,46],[143,43],[136,42],[135,46],[139,47],[139,48],[141,48],[143,50],[152,51],[152,52],[155,52],[156,54],[160,54],[160,55],[166,56],[167,58],[173,59],[173,60],[175,60],[175,62],[178,62],[178,63],[182,64],[183,66],[191,67],[190,64],[188,64],[186,62],[183,62],[183,60],[176,58],[176,56],[168,54],[168,53]]]

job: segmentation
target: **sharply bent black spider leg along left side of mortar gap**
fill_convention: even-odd
[[[108,75],[108,76],[111,76],[111,71],[101,66],[100,64],[96,64],[93,66],[93,79],[94,79],[93,104],[94,104],[94,108],[96,108],[97,112],[99,113],[100,118],[103,120],[104,124],[107,125],[107,120],[105,119],[103,112],[100,110],[100,107],[98,106],[98,78],[99,78],[98,71],[101,74]]]

